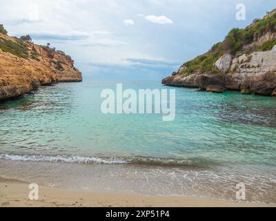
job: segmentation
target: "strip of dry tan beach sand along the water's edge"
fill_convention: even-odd
[[[0,177],[0,207],[276,207],[276,204],[231,202],[180,196],[101,193],[39,186],[39,200],[28,200],[29,184]]]

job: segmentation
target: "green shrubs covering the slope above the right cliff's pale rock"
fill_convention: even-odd
[[[186,68],[181,70],[179,74],[219,73],[219,70],[215,67],[215,62],[221,55],[230,53],[236,56],[242,53],[249,54],[254,51],[271,50],[273,46],[276,45],[276,39],[266,41],[261,46],[253,44],[257,39],[266,35],[268,32],[276,32],[276,13],[264,19],[255,19],[253,24],[245,29],[233,28],[224,41],[215,44],[204,55],[199,55],[195,59],[186,62],[184,64]]]

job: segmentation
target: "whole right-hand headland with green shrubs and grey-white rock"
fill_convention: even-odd
[[[231,30],[224,41],[186,62],[162,84],[276,95],[276,11],[245,29]]]

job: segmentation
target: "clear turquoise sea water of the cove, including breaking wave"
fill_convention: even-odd
[[[87,188],[88,177],[104,170],[132,179],[112,180],[114,186],[108,182],[106,189],[126,185],[139,193],[230,200],[235,200],[235,185],[244,182],[248,200],[276,202],[276,97],[121,82],[124,89],[176,89],[175,121],[163,122],[161,114],[101,113],[101,91],[115,89],[116,83],[59,84],[0,104],[0,175],[32,180],[39,175],[28,166],[35,164],[52,168],[48,177],[57,178],[57,168],[69,166],[75,176],[79,170],[89,174],[72,188]],[[28,178],[11,165],[28,168]],[[40,182],[62,186],[66,177]],[[135,186],[137,179],[146,180],[143,189]]]

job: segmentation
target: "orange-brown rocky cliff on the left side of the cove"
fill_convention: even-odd
[[[70,56],[0,33],[0,101],[70,81],[82,81]]]

